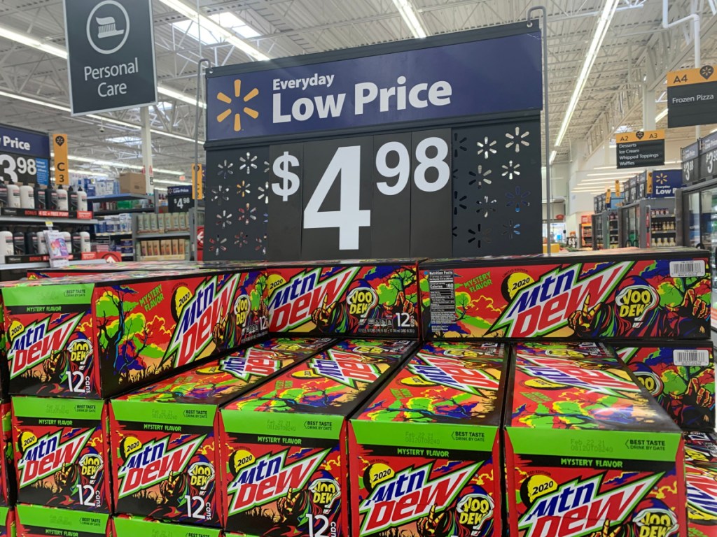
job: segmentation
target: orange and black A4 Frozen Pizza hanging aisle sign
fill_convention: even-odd
[[[668,73],[668,127],[717,123],[717,72],[711,65]]]

